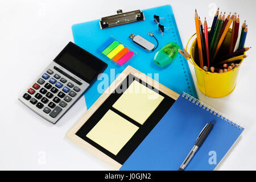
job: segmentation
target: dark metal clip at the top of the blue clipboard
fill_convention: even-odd
[[[101,29],[115,27],[122,24],[139,22],[144,20],[144,14],[141,10],[130,11],[123,13],[122,10],[117,10],[117,15],[106,16],[101,18],[100,27]]]

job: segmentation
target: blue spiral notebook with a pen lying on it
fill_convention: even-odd
[[[185,170],[213,170],[244,129],[185,93],[120,170],[177,170],[209,122],[213,129]]]

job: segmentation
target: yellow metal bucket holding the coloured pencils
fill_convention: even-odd
[[[220,51],[223,53],[228,54],[229,52],[229,45],[231,39],[231,31],[230,28]],[[193,36],[188,40],[186,50],[188,49],[188,44],[192,40]],[[187,51],[188,52],[188,51]],[[196,73],[196,84],[205,96],[212,97],[212,98],[221,98],[228,96],[233,90],[236,88],[237,84],[237,75],[240,67],[234,68],[231,71],[223,72],[223,73],[212,73],[207,72],[204,69],[201,69],[196,63],[199,63],[199,55],[197,49],[197,40],[193,40],[190,48],[190,55],[191,59],[189,59],[190,63],[195,68]],[[242,63],[243,59],[240,61]]]

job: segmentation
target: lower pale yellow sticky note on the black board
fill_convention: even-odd
[[[138,129],[138,126],[108,110],[86,137],[117,155]]]

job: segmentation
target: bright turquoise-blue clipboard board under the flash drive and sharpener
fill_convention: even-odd
[[[108,64],[108,68],[106,68],[104,72],[105,74],[99,77],[99,80],[97,80],[85,93],[87,109],[92,106],[127,65],[138,69],[154,80],[160,82],[160,84],[174,90],[176,93],[182,94],[183,92],[186,92],[197,98],[195,85],[188,67],[188,61],[185,60],[183,56],[180,54],[177,55],[174,62],[165,68],[159,68],[153,63],[155,53],[167,43],[175,42],[180,47],[183,47],[172,7],[166,5],[142,11],[145,20],[124,24],[122,26],[101,30],[99,19],[74,24],[72,26],[75,43]],[[158,25],[154,22],[155,14],[164,18],[164,21],[160,20],[160,23],[163,24],[164,27],[170,28],[170,31],[164,31],[163,36],[160,31],[158,31]],[[154,52],[147,52],[137,44],[133,43],[133,40],[129,38],[130,34],[140,35],[156,45],[155,39],[148,35],[149,31],[153,32],[159,42],[159,46]],[[120,43],[124,44],[125,47],[128,47],[135,52],[134,57],[122,66],[97,51],[97,49],[110,37],[117,39]]]

